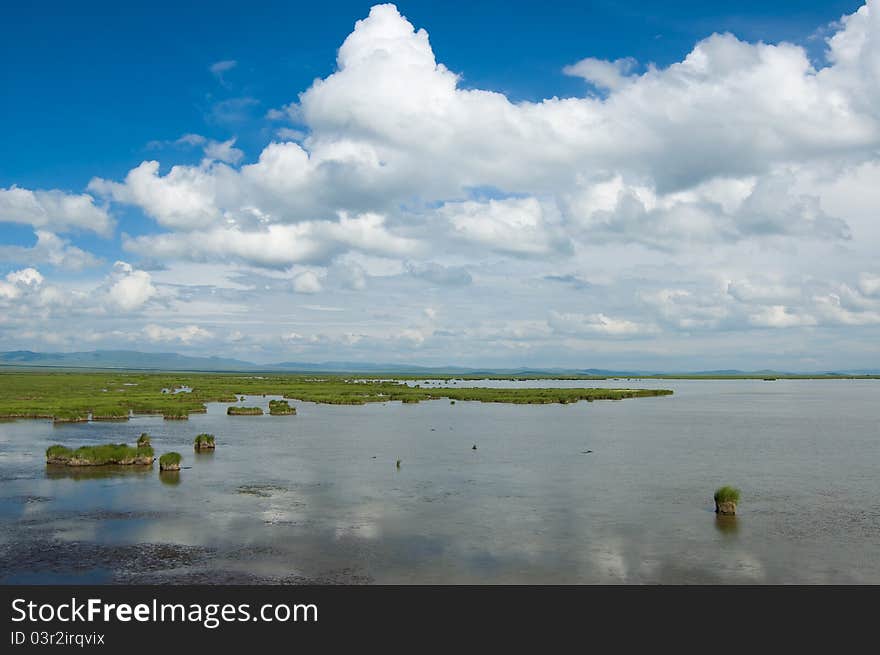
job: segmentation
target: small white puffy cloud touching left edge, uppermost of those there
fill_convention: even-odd
[[[109,236],[113,219],[88,194],[31,191],[17,186],[0,189],[0,223],[23,223],[56,232],[86,230]]]

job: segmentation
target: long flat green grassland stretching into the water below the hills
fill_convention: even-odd
[[[435,378],[431,378],[435,379]],[[456,378],[458,379],[458,378]],[[191,393],[168,394],[181,386]],[[0,372],[0,418],[87,420],[161,414],[185,419],[206,411],[207,402],[236,402],[243,395],[282,396],[335,405],[423,400],[471,400],[494,403],[574,403],[662,396],[665,389],[489,389],[425,388],[396,380],[364,380],[331,375],[247,375],[220,373],[134,373],[120,371]]]

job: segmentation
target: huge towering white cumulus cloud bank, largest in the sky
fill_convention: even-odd
[[[821,69],[797,45],[715,34],[666,68],[636,73],[631,59],[595,58],[565,68],[605,97],[514,103],[460,88],[427,32],[377,5],[343,42],[337,70],[273,114],[307,127],[289,135],[302,144],[269,144],[236,169],[227,165],[242,158],[234,140],[207,142],[213,164],[160,174],[158,162],[143,162],[122,183],[89,188],[168,228],[208,229],[214,241],[229,226],[254,236],[340,211],[393,219],[389,238],[424,234],[533,257],[609,240],[666,249],[846,240],[845,218],[796,189],[791,167],[870,157],[880,144],[880,103],[868,101],[878,99],[875,73],[863,63],[880,40],[877,13],[872,2],[844,20]],[[469,198],[476,188],[512,195]],[[401,211],[411,198],[438,203],[441,223]],[[138,246],[161,256],[169,238]]]

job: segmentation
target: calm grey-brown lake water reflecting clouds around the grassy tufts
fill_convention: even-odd
[[[0,582],[880,583],[880,381],[492,384],[675,395],[3,422]],[[141,432],[188,468],[45,465]]]

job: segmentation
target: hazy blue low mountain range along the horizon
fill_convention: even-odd
[[[77,353],[38,353],[15,350],[0,353],[0,367],[89,368],[153,371],[228,371],[286,373],[398,373],[410,375],[595,375],[627,377],[633,375],[796,375],[780,371],[615,371],[609,369],[563,368],[467,368],[462,366],[416,366],[412,364],[376,364],[367,362],[280,362],[254,364],[225,357],[189,357],[178,353],[143,353],[134,350],[96,350]],[[809,375],[880,375],[880,369],[810,371]]]

